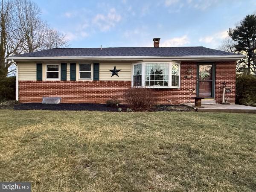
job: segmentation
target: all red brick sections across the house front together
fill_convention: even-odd
[[[192,78],[185,78],[187,69],[192,68]],[[196,94],[189,89],[196,88],[197,62],[182,61],[180,64],[181,84],[179,89],[154,89],[159,104],[194,102]],[[216,62],[216,102],[222,100],[222,82],[231,87],[230,102],[235,102],[235,62]],[[42,102],[42,97],[60,96],[64,103],[105,103],[113,97],[124,101],[123,93],[131,87],[131,81],[19,81],[20,102]]]

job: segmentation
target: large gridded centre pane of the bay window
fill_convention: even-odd
[[[147,63],[145,65],[145,86],[168,86],[169,63]]]

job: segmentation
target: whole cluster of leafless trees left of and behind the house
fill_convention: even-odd
[[[6,57],[37,50],[68,47],[65,35],[47,27],[32,0],[1,0],[0,77],[14,75],[15,63]]]

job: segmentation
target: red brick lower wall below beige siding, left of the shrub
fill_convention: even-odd
[[[19,81],[20,102],[42,102],[42,97],[61,97],[63,103],[105,103],[131,87],[131,81]]]

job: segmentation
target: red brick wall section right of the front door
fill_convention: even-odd
[[[231,88],[230,93],[225,93],[230,103],[235,103],[236,99],[236,61],[217,61],[215,69],[215,100],[216,103],[222,102],[223,82],[226,87]]]

